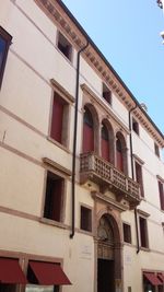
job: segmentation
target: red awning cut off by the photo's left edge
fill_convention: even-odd
[[[0,258],[0,282],[12,284],[27,283],[17,259]]]

